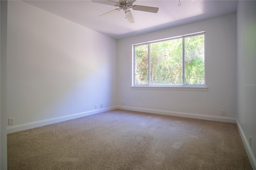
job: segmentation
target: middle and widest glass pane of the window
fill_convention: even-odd
[[[150,44],[151,85],[182,84],[182,38]]]

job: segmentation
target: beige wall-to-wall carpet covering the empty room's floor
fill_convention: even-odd
[[[9,170],[250,170],[236,124],[114,110],[8,134]]]

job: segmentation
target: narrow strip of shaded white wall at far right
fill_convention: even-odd
[[[244,86],[248,84],[249,86]],[[252,166],[256,169],[256,1],[238,1],[237,121]],[[252,146],[249,137],[252,136]]]

